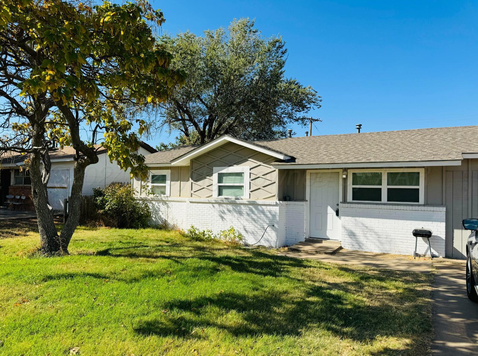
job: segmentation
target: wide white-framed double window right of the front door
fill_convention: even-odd
[[[424,203],[424,169],[349,170],[349,201]]]

